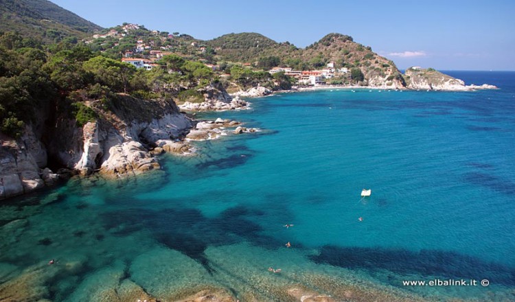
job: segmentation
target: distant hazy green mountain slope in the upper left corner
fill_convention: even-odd
[[[0,32],[16,31],[46,43],[102,29],[47,0],[0,0],[0,15]]]

